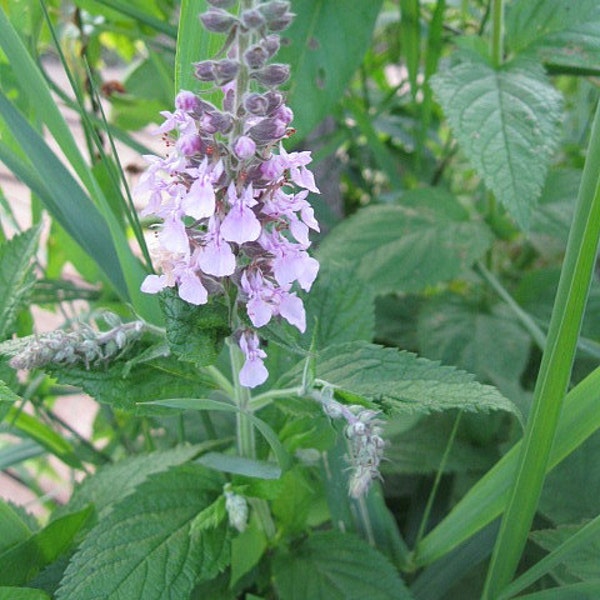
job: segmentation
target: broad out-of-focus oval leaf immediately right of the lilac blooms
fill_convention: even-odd
[[[448,193],[420,190],[399,205],[368,207],[345,220],[325,238],[318,256],[350,261],[356,285],[366,282],[378,294],[417,292],[458,276],[491,241],[488,228],[469,221]]]

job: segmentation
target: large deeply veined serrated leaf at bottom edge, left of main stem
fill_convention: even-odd
[[[189,597],[203,564],[211,560],[201,539],[190,537],[190,526],[222,485],[197,465],[150,477],[86,537],[57,599],[97,599],[99,590],[106,600]]]

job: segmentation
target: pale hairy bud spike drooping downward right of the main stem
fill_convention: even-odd
[[[379,464],[383,458],[385,441],[381,437],[383,421],[379,412],[358,404],[346,406],[333,398],[331,387],[325,387],[315,396],[323,411],[331,419],[346,421],[344,432],[349,444],[348,460],[352,465],[349,494],[360,498],[374,479],[381,479]]]

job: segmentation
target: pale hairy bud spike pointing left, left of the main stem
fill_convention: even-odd
[[[99,331],[84,323],[74,331],[57,329],[21,338],[9,364],[14,369],[34,369],[48,364],[84,364],[89,368],[115,358],[139,339],[144,330],[142,321],[120,323],[113,314],[105,314],[103,319],[113,325],[112,329]],[[11,353],[10,348],[8,352]]]

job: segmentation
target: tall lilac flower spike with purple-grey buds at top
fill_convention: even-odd
[[[227,33],[226,58],[194,64],[196,77],[220,88],[217,107],[181,91],[175,111],[158,128],[169,145],[164,158],[147,157],[138,193],[144,215],[161,221],[156,266],[142,284],[147,293],[175,287],[191,304],[213,294],[245,308],[252,327],[233,323],[245,355],[240,383],[255,387],[267,370],[257,329],[283,317],[300,331],[306,317],[297,289],[309,291],[319,269],[310,257],[309,231],[319,231],[309,192],[318,193],[309,152],[286,152],[293,113],[277,87],[289,67],[269,63],[279,49],[277,31],[292,20],[289,3],[256,2],[240,14],[234,3],[210,0],[204,26]],[[232,311],[236,315],[236,310]]]

